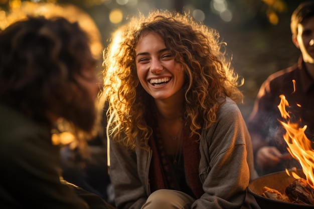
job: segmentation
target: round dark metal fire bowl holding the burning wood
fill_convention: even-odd
[[[302,170],[297,170],[296,173],[305,178]],[[285,188],[294,180],[293,177],[288,176],[285,171],[270,173],[258,177],[251,181],[248,186],[248,192],[251,193],[261,209],[299,209],[299,208],[314,208],[314,205],[290,203],[284,201],[273,200],[262,196],[264,192],[263,187],[267,186],[284,193]]]

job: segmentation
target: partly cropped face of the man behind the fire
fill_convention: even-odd
[[[297,26],[297,35],[292,41],[300,49],[305,63],[314,64],[314,17],[305,19]]]

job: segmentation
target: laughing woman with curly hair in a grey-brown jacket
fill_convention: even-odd
[[[117,208],[247,208],[252,148],[218,32],[154,11],[115,34],[103,96]]]

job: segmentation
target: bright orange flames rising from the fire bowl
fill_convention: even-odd
[[[286,130],[283,135],[288,147],[287,150],[290,152],[291,156],[298,160],[302,166],[303,173],[306,176],[307,182],[313,186],[314,182],[314,151],[311,147],[311,141],[306,137],[304,131],[306,125],[299,127],[298,123],[290,122],[290,115],[286,111],[285,107],[289,106],[288,101],[285,99],[284,95],[280,95],[280,104],[277,106],[281,117],[286,120],[286,122],[280,121],[280,124]]]

